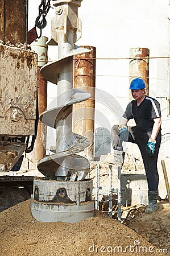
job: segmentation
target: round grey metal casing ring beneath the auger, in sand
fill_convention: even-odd
[[[78,222],[94,217],[93,181],[57,181],[35,177],[32,216],[42,222]]]

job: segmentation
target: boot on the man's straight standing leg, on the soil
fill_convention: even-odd
[[[156,212],[156,210],[159,208],[159,205],[157,204],[157,199],[158,190],[148,191],[148,207],[145,210],[146,213]]]

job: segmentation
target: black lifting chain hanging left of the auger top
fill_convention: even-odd
[[[35,27],[38,27],[40,29],[40,36],[42,35],[42,28],[44,28],[47,25],[47,21],[45,19],[45,16],[47,15],[49,9],[52,8],[50,4],[50,0],[42,0],[42,2],[39,5],[39,15],[35,20]]]

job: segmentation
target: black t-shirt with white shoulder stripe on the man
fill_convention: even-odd
[[[137,106],[135,100],[129,102],[123,114],[126,119],[135,119],[139,131],[152,131],[154,118],[161,117],[160,104],[155,98],[146,96]]]

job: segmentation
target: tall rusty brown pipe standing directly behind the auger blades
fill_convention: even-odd
[[[74,57],[74,87],[82,88],[91,97],[73,106],[73,131],[85,136],[90,146],[82,152],[83,156],[94,159],[94,113],[96,86],[96,47],[82,46],[90,52],[78,54]]]

